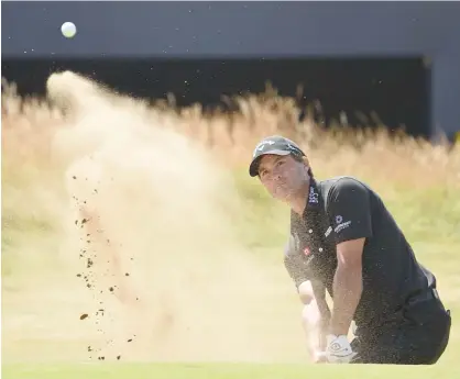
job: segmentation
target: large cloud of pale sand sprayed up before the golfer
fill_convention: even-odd
[[[67,312],[88,314],[78,321],[97,350],[88,356],[281,357],[270,328],[282,291],[236,239],[241,203],[213,157],[143,104],[73,73],[51,76],[47,87],[68,120],[52,148],[68,198],[53,213],[62,219],[54,237],[81,290],[72,280],[57,288],[73,288]]]

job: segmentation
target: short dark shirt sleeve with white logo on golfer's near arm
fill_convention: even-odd
[[[352,178],[339,179],[330,189],[327,212],[336,244],[372,236],[370,192]]]

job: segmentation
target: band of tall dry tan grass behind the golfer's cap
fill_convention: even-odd
[[[354,129],[315,124],[311,112],[298,122],[300,109],[295,99],[276,91],[236,97],[239,111],[207,114],[200,104],[177,109],[174,102],[152,103],[117,97],[149,113],[155,125],[173,129],[213,152],[223,165],[248,165],[255,143],[270,134],[283,134],[298,142],[310,157],[316,171],[325,176],[355,175],[376,182],[408,188],[460,186],[460,144],[431,144],[403,132],[390,132],[385,125]],[[21,98],[14,83],[2,86],[3,175],[14,176],[13,167],[33,161],[30,170],[46,169],[54,132],[66,127],[63,104],[50,99]]]

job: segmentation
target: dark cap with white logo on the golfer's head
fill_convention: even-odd
[[[254,148],[252,153],[252,161],[249,166],[249,175],[256,177],[259,175],[259,163],[261,157],[266,154],[274,155],[295,155],[297,157],[305,156],[304,152],[298,145],[281,135],[272,135],[263,138]]]

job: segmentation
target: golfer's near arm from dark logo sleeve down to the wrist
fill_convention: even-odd
[[[330,333],[347,335],[361,299],[362,253],[372,236],[368,189],[351,178],[331,189],[328,213],[333,221],[338,266],[333,278],[333,309]]]

